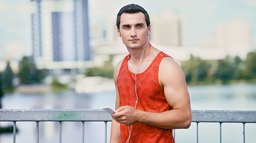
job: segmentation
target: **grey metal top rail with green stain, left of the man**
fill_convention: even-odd
[[[0,121],[112,121],[104,110],[0,109]]]

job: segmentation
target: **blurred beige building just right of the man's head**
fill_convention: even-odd
[[[185,15],[165,10],[161,15],[151,15],[152,42],[167,46],[187,46],[188,24]]]

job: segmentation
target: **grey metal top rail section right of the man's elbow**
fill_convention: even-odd
[[[256,123],[256,111],[193,110],[192,122]]]

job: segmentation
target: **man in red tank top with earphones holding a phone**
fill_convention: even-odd
[[[116,110],[110,142],[174,142],[189,128],[190,99],[180,66],[148,41],[150,18],[140,6],[117,14],[117,34],[129,55],[115,68]]]

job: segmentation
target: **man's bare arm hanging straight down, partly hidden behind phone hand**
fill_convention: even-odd
[[[119,93],[117,90],[117,76],[120,70],[120,66],[123,60],[121,60],[115,68],[114,71],[114,81],[115,81],[115,86],[116,86],[116,109],[119,108]],[[120,134],[120,124],[117,123],[115,120],[112,120],[111,124],[111,135],[110,135],[110,142],[115,143],[115,142],[120,142],[121,134]]]

